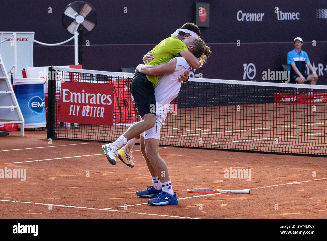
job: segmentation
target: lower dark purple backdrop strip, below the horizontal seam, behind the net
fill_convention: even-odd
[[[191,77],[231,79],[263,82],[282,82],[281,80],[263,80],[263,71],[282,71],[282,64],[287,64],[287,52],[294,49],[293,43],[241,43],[209,44],[212,55],[206,64],[199,70],[192,70]],[[121,67],[136,67],[143,63],[143,55],[150,51],[154,45],[107,45],[84,47],[85,57],[83,68],[93,70],[121,71]],[[319,76],[318,84],[327,85],[327,42],[304,42],[302,50],[308,53],[309,59]],[[65,64],[73,63],[73,47],[37,47],[34,49],[34,62],[36,66],[60,65],[60,53],[67,55]],[[36,56],[47,56],[44,60],[36,61]],[[100,61],[101,60],[101,61]],[[311,73],[311,72],[310,72]]]

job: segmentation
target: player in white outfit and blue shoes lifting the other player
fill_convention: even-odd
[[[200,65],[202,66],[211,54],[210,48],[198,36],[185,37],[183,42],[189,51],[199,58]],[[146,190],[137,191],[136,195],[140,197],[155,197],[148,200],[148,203],[151,205],[178,204],[176,192],[173,192],[170,182],[167,165],[159,155],[159,142],[161,127],[167,116],[168,104],[178,95],[181,89],[181,82],[178,79],[185,71],[190,70],[190,65],[183,57],[175,57],[168,63],[156,66],[138,65],[137,67],[137,71],[147,75],[164,73],[155,88],[157,106],[153,110],[156,112],[156,124],[151,129],[144,131],[140,137],[137,136],[129,140],[125,147],[118,151],[118,158],[127,166],[133,167],[131,150],[140,138],[141,152],[152,176],[152,186],[148,186]]]

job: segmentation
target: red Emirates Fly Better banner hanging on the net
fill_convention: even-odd
[[[111,84],[62,82],[60,122],[113,125]]]

